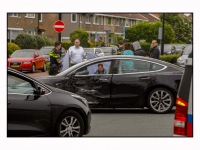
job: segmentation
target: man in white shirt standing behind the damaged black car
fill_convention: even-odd
[[[71,58],[71,66],[82,62],[83,58],[86,58],[86,53],[80,45],[80,40],[76,39],[74,46],[69,48],[69,58]]]

